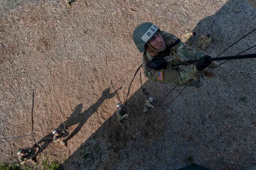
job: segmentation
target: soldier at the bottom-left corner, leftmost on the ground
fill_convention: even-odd
[[[27,161],[31,161],[33,164],[36,164],[36,160],[32,158],[34,156],[36,149],[39,150],[40,146],[37,144],[33,145],[31,148],[26,148],[26,149],[18,149],[17,154],[19,155],[19,161],[20,164],[25,164]]]

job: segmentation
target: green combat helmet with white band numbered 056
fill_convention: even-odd
[[[132,39],[134,44],[137,46],[138,50],[140,50],[141,53],[145,51],[146,44],[154,48],[155,51],[165,50],[165,48],[158,50],[148,43],[148,41],[151,40],[151,38],[157,33],[157,31],[159,31],[159,28],[151,22],[144,22],[140,24],[137,28],[135,28],[132,34]]]

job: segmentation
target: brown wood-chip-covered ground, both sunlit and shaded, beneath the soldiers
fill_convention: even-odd
[[[69,8],[64,0],[1,1],[0,138],[38,135],[45,146],[35,155],[39,169],[47,158],[66,170],[254,166],[255,59],[230,60],[203,87],[176,87],[165,100],[173,86],[148,80],[140,69],[127,98],[131,116],[120,126],[115,113],[142,63],[132,40],[139,24],[153,22],[179,38],[195,29],[192,47],[209,33],[205,54],[217,57],[255,29],[255,1],[249,3],[77,0]],[[252,32],[221,57],[254,46],[255,37]],[[252,53],[255,48],[242,54]],[[141,82],[164,104],[183,91],[144,116]],[[70,134],[67,149],[51,143],[51,131],[64,128],[63,122]],[[30,136],[6,140],[0,141],[0,161],[7,163],[18,162],[17,149],[35,143]]]

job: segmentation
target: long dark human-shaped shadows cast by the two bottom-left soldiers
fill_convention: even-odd
[[[122,87],[120,87],[119,89],[121,89]],[[119,90],[117,89],[116,92]],[[67,129],[68,127],[78,124],[78,126],[76,127],[76,129],[68,136],[68,138],[66,139],[66,141],[68,141],[69,139],[71,139],[74,135],[76,135],[79,130],[83,127],[83,125],[87,122],[88,118],[97,111],[97,109],[100,107],[100,105],[103,103],[104,100],[112,98],[115,96],[116,92],[110,93],[110,89],[107,88],[102,92],[101,97],[99,98],[99,100],[93,104],[92,106],[90,106],[87,110],[83,111],[81,113],[81,110],[83,108],[82,104],[78,104],[75,108],[73,113],[69,116],[69,118],[64,122],[65,124],[65,128]],[[56,129],[61,130],[64,128],[63,123],[61,123],[58,127],[56,127]],[[52,129],[53,130],[53,129]],[[43,143],[42,147],[38,150],[38,152],[34,155],[34,157],[36,158],[38,154],[40,154],[45,148],[47,148],[48,145],[50,145],[50,143],[52,143],[53,141],[53,134],[49,133],[48,135],[46,135],[45,137],[43,137],[41,140],[38,141],[38,145],[40,146],[41,143]]]

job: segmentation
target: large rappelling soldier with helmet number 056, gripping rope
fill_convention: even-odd
[[[210,56],[191,49],[176,36],[150,22],[140,24],[133,32],[133,42],[143,54],[144,75],[156,82],[174,86],[200,87],[205,77],[214,78],[216,73],[205,68],[215,68],[216,62],[208,61]],[[191,69],[183,70],[178,66],[190,60],[200,59]]]

